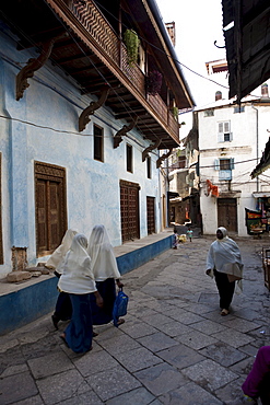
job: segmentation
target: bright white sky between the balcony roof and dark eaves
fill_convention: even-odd
[[[175,22],[175,51],[180,63],[192,71],[227,86],[226,73],[208,76],[206,62],[225,58],[221,0],[155,0],[164,23]],[[228,89],[192,73],[181,65],[184,77],[198,107],[214,102],[215,92],[224,99]],[[190,121],[190,114],[180,120]],[[188,118],[187,118],[188,117]],[[190,126],[190,123],[189,123]],[[186,127],[188,131],[190,128]],[[186,136],[186,134],[184,135]]]

